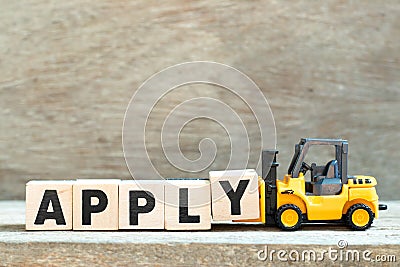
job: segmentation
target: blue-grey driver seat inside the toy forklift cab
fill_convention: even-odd
[[[314,177],[312,183],[315,196],[337,195],[342,191],[337,160],[331,160],[326,165],[321,175]]]

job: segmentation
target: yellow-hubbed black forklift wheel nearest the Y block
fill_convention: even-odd
[[[300,228],[301,221],[302,212],[296,205],[283,205],[276,212],[276,222],[282,230],[295,231]]]

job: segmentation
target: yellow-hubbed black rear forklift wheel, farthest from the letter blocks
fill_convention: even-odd
[[[365,204],[354,204],[346,215],[347,225],[353,230],[363,231],[368,229],[374,220],[374,214]]]

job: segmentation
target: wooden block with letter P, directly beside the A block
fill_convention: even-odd
[[[73,186],[74,230],[118,230],[117,179],[82,179]]]

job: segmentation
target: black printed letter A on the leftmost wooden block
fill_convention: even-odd
[[[53,206],[52,212],[47,211],[50,201]],[[57,225],[66,225],[56,190],[44,191],[42,202],[40,203],[39,211],[36,215],[35,224],[44,224],[44,221],[47,219],[56,220]]]

